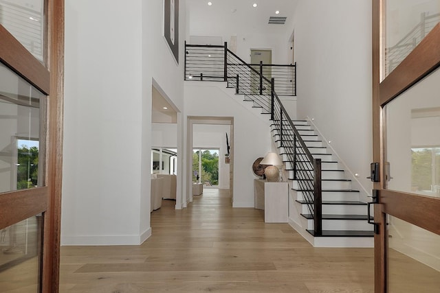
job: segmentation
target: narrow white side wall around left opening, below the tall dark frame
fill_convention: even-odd
[[[148,178],[150,170],[150,151],[151,151],[151,83],[154,82],[155,88],[160,90],[163,96],[166,96],[177,111],[177,129],[183,128],[184,103],[184,41],[186,38],[186,0],[179,0],[179,64],[175,62],[173,55],[162,35],[163,23],[163,1],[142,1],[143,19],[143,50],[144,50],[144,122],[142,130],[142,178]],[[170,137],[168,139],[174,139]],[[185,176],[184,161],[184,137],[181,132],[177,132],[177,202],[176,208],[181,207],[180,196],[181,189],[185,182],[182,180]],[[150,180],[142,182],[142,195],[148,194],[148,198],[143,196],[144,202],[141,207],[149,207]],[[181,188],[180,188],[181,187]],[[141,223],[148,222],[149,213],[141,213],[143,219]]]

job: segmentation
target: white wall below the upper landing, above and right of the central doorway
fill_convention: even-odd
[[[233,207],[254,207],[252,163],[271,150],[269,117],[256,116],[225,93],[225,84],[186,82],[186,115],[197,117],[233,117],[234,119],[234,202]],[[235,97],[240,99],[241,96]]]

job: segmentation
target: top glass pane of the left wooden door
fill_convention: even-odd
[[[45,1],[0,0],[0,24],[45,63]]]

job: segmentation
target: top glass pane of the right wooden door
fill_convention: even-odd
[[[439,23],[440,1],[386,0],[384,14],[382,79]]]

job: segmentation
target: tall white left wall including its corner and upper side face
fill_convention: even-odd
[[[162,1],[65,3],[63,245],[140,244],[151,234],[153,78],[183,106],[162,13]]]

